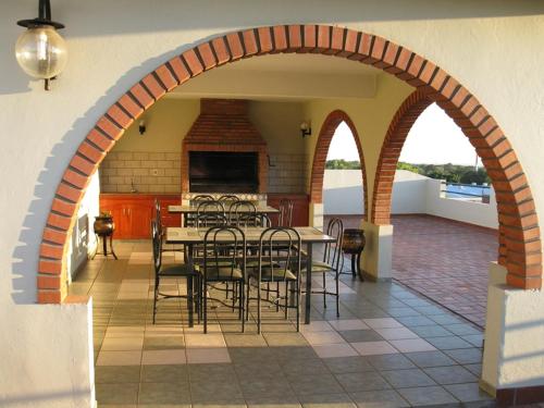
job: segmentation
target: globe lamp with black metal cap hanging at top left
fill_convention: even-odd
[[[39,0],[37,18],[21,20],[17,25],[27,28],[15,44],[17,62],[28,75],[44,79],[45,89],[49,90],[49,82],[64,70],[67,62],[66,42],[57,33],[64,25],[51,21],[49,0]]]

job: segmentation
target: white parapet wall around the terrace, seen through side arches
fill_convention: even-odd
[[[393,185],[392,213],[431,214],[497,228],[497,205],[493,188],[490,194],[490,203],[445,198],[440,180],[397,170]],[[325,215],[362,214],[362,197],[360,170],[325,171],[323,182],[323,213]]]

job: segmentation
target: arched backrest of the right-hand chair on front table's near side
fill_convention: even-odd
[[[259,238],[259,280],[262,268],[270,269],[272,282],[283,282],[287,277],[287,270],[300,274],[300,234],[285,226],[272,226],[264,230]],[[282,250],[277,251],[281,247]]]

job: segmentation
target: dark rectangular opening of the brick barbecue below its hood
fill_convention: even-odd
[[[191,193],[257,193],[257,152],[189,151]]]

